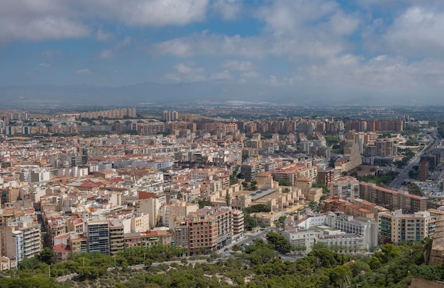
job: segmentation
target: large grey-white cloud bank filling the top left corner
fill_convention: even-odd
[[[208,6],[209,0],[2,1],[0,42],[90,36],[104,41],[111,33],[91,28],[91,19],[142,27],[186,25],[204,21]]]

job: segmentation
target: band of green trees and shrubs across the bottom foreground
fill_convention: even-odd
[[[131,270],[121,262],[126,260],[126,256],[131,256],[129,254],[114,258],[87,253],[66,263],[51,265],[51,278],[48,278],[48,265],[45,263],[39,263],[36,270],[3,272],[0,287],[406,288],[413,276],[427,280],[444,279],[443,267],[425,265],[424,255],[427,255],[430,243],[426,240],[402,246],[386,244],[371,256],[344,255],[323,244],[316,244],[306,257],[290,262],[280,260],[274,251],[274,248],[282,252],[291,250],[288,243],[282,241],[279,234],[270,232],[267,243],[256,239],[252,245],[245,247],[243,253],[235,253],[235,258],[209,258],[209,261],[197,263],[191,258],[177,258],[175,263],[168,265],[149,265],[146,270]],[[161,250],[157,247],[152,252],[165,253]],[[141,251],[134,250],[133,253],[140,254]],[[70,272],[80,272],[80,277],[60,283],[54,278]],[[13,273],[16,273],[15,277]]]

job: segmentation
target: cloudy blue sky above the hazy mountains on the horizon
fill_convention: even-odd
[[[0,86],[187,83],[238,99],[267,91],[271,99],[407,105],[433,104],[444,88],[442,0],[0,0],[0,7]]]

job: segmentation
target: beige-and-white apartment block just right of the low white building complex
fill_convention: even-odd
[[[403,214],[401,209],[381,212],[378,215],[379,242],[399,244],[431,238],[435,232],[436,219],[427,211]]]

